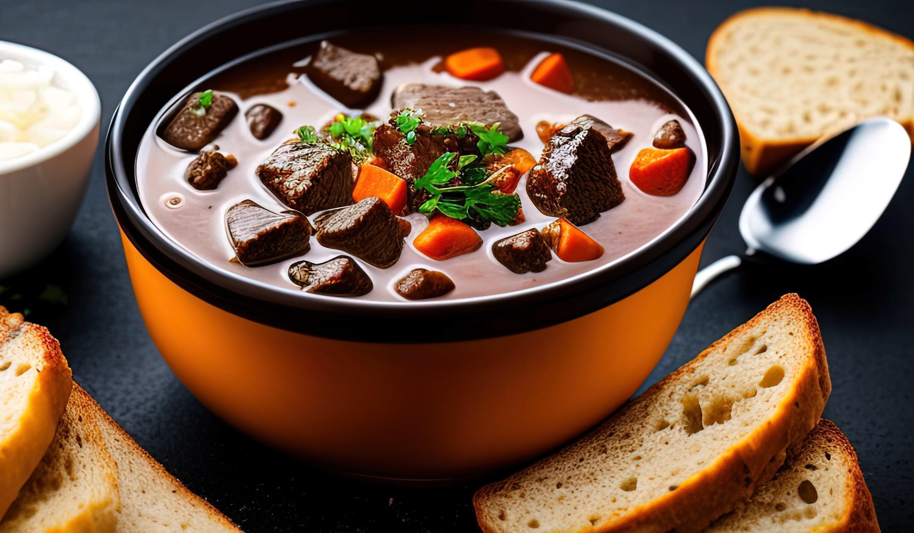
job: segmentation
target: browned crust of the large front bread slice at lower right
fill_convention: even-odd
[[[695,359],[658,381],[629,404],[637,406],[663,394],[668,383],[675,382],[684,374],[691,374],[696,363],[707,357],[717,346],[751,330],[767,315],[781,311],[796,314],[802,320],[804,327],[798,329],[805,332],[806,340],[813,347],[813,353],[812,357],[808,357],[807,364],[794,380],[792,389],[785,395],[779,409],[771,415],[768,423],[730,446],[714,463],[687,478],[675,491],[635,506],[611,521],[592,528],[566,530],[567,533],[697,533],[707,528],[717,517],[733,510],[739,501],[751,496],[756,486],[771,479],[783,463],[788,449],[797,446],[819,421],[825,401],[831,392],[831,380],[828,376],[828,364],[825,360],[819,324],[810,305],[797,294],[782,296],[748,323],[740,325],[709,346]],[[604,427],[607,426],[600,426],[594,433],[599,434]],[[529,468],[545,471],[548,462],[549,458]],[[509,477],[503,482],[486,485],[473,496],[476,518],[485,533],[504,533],[488,520],[484,513],[484,500],[501,487],[512,483],[512,479],[513,477]],[[558,533],[558,530],[555,533]]]

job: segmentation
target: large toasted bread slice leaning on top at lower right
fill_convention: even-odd
[[[706,528],[751,496],[831,391],[813,312],[783,296],[564,450],[473,497],[486,532]]]

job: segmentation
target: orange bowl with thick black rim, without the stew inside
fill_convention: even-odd
[[[532,291],[441,303],[292,298],[222,275],[169,240],[143,211],[133,165],[143,131],[171,95],[239,56],[345,29],[339,4],[267,5],[229,17],[165,52],[124,97],[106,171],[150,336],[218,416],[338,472],[447,480],[546,453],[622,405],[672,339],[739,163],[727,103],[685,51],[621,16],[565,2],[499,2],[515,17],[494,20],[497,27],[584,39],[595,53],[657,73],[702,126],[702,197],[608,268]],[[478,24],[473,13],[494,4],[469,1],[462,12],[421,3],[410,13]],[[399,12],[377,3],[345,9],[382,26]],[[422,320],[440,325],[434,337],[395,327]]]

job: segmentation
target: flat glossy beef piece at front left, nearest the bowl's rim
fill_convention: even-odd
[[[289,279],[308,293],[328,296],[362,296],[374,288],[368,274],[356,261],[345,255],[320,263],[292,263]]]

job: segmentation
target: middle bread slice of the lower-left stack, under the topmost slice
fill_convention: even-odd
[[[54,440],[0,521],[0,533],[114,533],[117,464],[96,407],[74,383]]]

